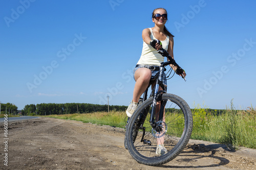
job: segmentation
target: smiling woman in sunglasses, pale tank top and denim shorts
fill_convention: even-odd
[[[167,21],[167,11],[164,8],[157,8],[152,13],[152,21],[155,23],[153,28],[146,28],[142,31],[142,39],[143,39],[143,48],[141,57],[134,69],[134,80],[136,81],[134,92],[133,92],[133,100],[129,107],[126,110],[126,114],[128,117],[131,117],[134,111],[138,108],[138,101],[140,96],[146,90],[150,80],[154,77],[159,71],[159,66],[164,61],[164,57],[157,52],[160,48],[164,48],[169,55],[174,58],[173,55],[173,46],[174,39],[173,35],[168,32],[165,27],[165,23]],[[160,40],[161,43],[156,43],[155,48],[150,45],[152,39]],[[176,70],[175,66],[171,66],[174,71]],[[186,76],[185,72],[183,75]],[[164,74],[164,86],[167,86],[166,76]],[[152,88],[154,84],[152,84]],[[159,87],[159,90],[163,90]],[[156,153],[164,154],[166,149],[163,146],[164,138],[159,138],[157,141],[157,150]]]

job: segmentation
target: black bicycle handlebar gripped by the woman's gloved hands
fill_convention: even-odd
[[[159,40],[156,40],[156,39],[153,39],[153,40],[150,41],[150,44],[151,44],[151,46],[153,46],[153,48],[155,48],[156,43],[159,43],[159,44],[160,44],[161,42],[160,42]],[[161,54],[163,57],[167,57],[167,58],[169,59],[169,62],[166,63],[166,65],[168,65],[168,64],[173,64],[173,65],[175,65],[175,66],[177,67],[176,70],[175,70],[176,74],[177,74],[177,75],[181,75],[181,77],[186,81],[185,76],[183,75],[184,69],[182,69],[182,68],[176,63],[176,61],[169,55],[169,53],[168,53],[166,50],[164,50],[164,48],[159,49],[157,52],[158,52],[159,54]],[[184,71],[184,72],[185,72],[185,71]]]

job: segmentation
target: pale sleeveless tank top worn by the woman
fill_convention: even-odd
[[[153,31],[151,28],[150,32],[150,38],[151,39],[156,39],[154,37]],[[162,42],[162,47],[164,50],[168,50],[168,45],[169,45],[169,36],[167,35],[166,39]],[[161,62],[164,61],[164,57],[160,55],[155,48],[153,48],[150,44],[147,44],[143,41],[143,48],[142,48],[142,53],[140,56],[140,59],[137,64],[142,64],[142,65],[161,65]]]

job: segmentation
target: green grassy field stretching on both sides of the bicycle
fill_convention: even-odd
[[[227,108],[224,113],[209,111],[200,105],[193,110],[194,127],[191,139],[231,144],[233,147],[256,149],[256,111]],[[84,123],[110,125],[124,128],[125,112],[95,112],[86,114],[48,115],[61,119],[78,120]]]

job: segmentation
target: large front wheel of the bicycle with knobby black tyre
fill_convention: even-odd
[[[150,124],[152,97],[138,107],[126,129],[127,148],[131,156],[139,163],[152,166],[167,163],[177,157],[186,146],[193,129],[191,110],[179,96],[161,94],[157,103],[155,127]],[[145,109],[148,108],[150,111],[147,113]],[[163,115],[162,119],[159,118],[160,114]],[[138,122],[143,124],[138,125]],[[136,138],[134,131],[137,131]],[[164,146],[164,152],[159,152],[157,145]]]

